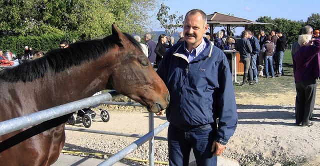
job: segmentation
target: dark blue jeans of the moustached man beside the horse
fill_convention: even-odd
[[[212,143],[216,126],[203,125],[192,129],[168,127],[169,166],[188,166],[191,148],[197,166],[216,166],[217,157],[212,156]]]

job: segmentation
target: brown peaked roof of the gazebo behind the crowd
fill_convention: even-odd
[[[273,25],[272,23],[256,22],[249,19],[239,18],[232,15],[214,12],[207,17],[210,33],[213,34],[215,27],[226,27],[226,31],[232,30],[236,27],[244,27],[245,30],[253,31],[253,28],[259,25]]]

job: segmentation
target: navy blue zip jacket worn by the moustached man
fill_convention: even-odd
[[[175,126],[191,127],[216,123],[215,140],[225,145],[237,124],[233,84],[222,50],[208,43],[189,63],[184,42],[173,45],[158,66],[157,73],[170,93],[166,118]]]

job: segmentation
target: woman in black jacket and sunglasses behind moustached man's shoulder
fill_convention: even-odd
[[[169,45],[166,44],[166,41],[169,42]],[[155,46],[154,52],[156,54],[155,62],[158,65],[162,60],[162,57],[165,55],[166,48],[170,48],[172,46],[170,42],[170,38],[165,34],[160,34],[158,38],[158,43]]]

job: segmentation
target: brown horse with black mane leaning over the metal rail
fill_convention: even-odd
[[[146,106],[167,107],[168,91],[139,43],[112,25],[112,35],[71,44],[0,72],[0,122],[92,96],[113,87]],[[48,166],[64,145],[72,114],[0,136],[0,165]]]

